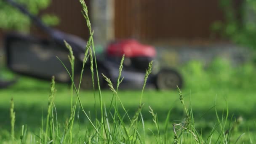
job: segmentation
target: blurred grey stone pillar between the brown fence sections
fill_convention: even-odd
[[[106,45],[114,40],[114,0],[91,0],[91,23],[94,41],[97,45]]]

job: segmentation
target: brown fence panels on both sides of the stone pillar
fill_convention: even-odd
[[[114,8],[116,39],[208,39],[211,24],[223,20],[219,0],[115,0]],[[59,16],[57,29],[88,38],[79,0],[52,0],[43,12]]]

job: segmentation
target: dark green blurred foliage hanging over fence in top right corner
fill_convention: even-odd
[[[212,25],[215,32],[237,44],[256,49],[256,0],[243,0],[235,8],[234,0],[219,0],[224,12],[224,22]]]

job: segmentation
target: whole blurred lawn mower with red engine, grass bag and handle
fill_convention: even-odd
[[[62,66],[61,61],[70,71],[68,59],[69,51],[65,47],[63,40],[66,40],[72,46],[75,56],[75,77],[76,85],[79,83],[80,72],[83,65],[86,41],[80,37],[60,32],[51,27],[47,27],[40,19],[29,13],[23,6],[15,3],[13,0],[5,0],[22,13],[29,16],[30,19],[42,29],[49,39],[41,39],[30,35],[8,34],[5,39],[5,48],[7,53],[7,66],[13,71],[22,75],[29,75],[45,80],[50,80],[54,75],[55,80],[64,83],[70,83],[71,79]],[[125,60],[123,63],[123,88],[141,88],[144,83],[144,76],[149,62],[155,60],[156,50],[150,45],[143,45],[136,40],[119,40],[109,43],[105,51],[96,53],[97,66],[99,72],[99,83],[101,88],[106,88],[107,83],[101,76],[101,73],[110,78],[113,85],[116,85],[119,74],[119,65],[123,54]],[[89,60],[90,61],[90,60]],[[81,88],[92,89],[92,78],[90,62],[85,64]],[[155,86],[157,89],[173,89],[176,85],[182,86],[182,78],[179,73],[170,68],[160,68],[157,62],[154,62],[152,73],[149,75],[147,83]],[[96,82],[96,76],[94,75]],[[97,88],[97,84],[95,84]]]

